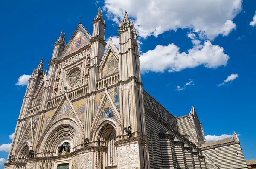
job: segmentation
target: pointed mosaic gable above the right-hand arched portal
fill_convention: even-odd
[[[118,125],[121,124],[121,118],[118,110],[113,104],[111,96],[109,96],[108,92],[106,91],[102,99],[102,104],[99,107],[99,111],[93,121],[92,132],[95,132],[97,126],[99,126],[105,120],[115,121]]]

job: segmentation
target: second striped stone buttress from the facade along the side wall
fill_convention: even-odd
[[[174,149],[177,169],[187,169],[186,157],[184,152],[184,143],[181,141],[174,141]]]

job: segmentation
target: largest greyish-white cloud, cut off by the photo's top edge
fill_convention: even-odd
[[[241,11],[242,0],[105,0],[103,8],[116,23],[127,10],[143,38],[189,28],[201,39],[212,40],[236,28],[232,20]]]

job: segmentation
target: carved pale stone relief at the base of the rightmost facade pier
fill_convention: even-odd
[[[129,144],[119,148],[119,169],[139,169],[139,146]]]

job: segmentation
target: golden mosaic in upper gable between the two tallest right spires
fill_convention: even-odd
[[[106,77],[106,76],[111,75],[116,72],[118,72],[118,62],[115,59],[113,53],[110,52],[110,54],[108,56],[108,60],[105,63],[104,68],[103,68],[103,77]]]

